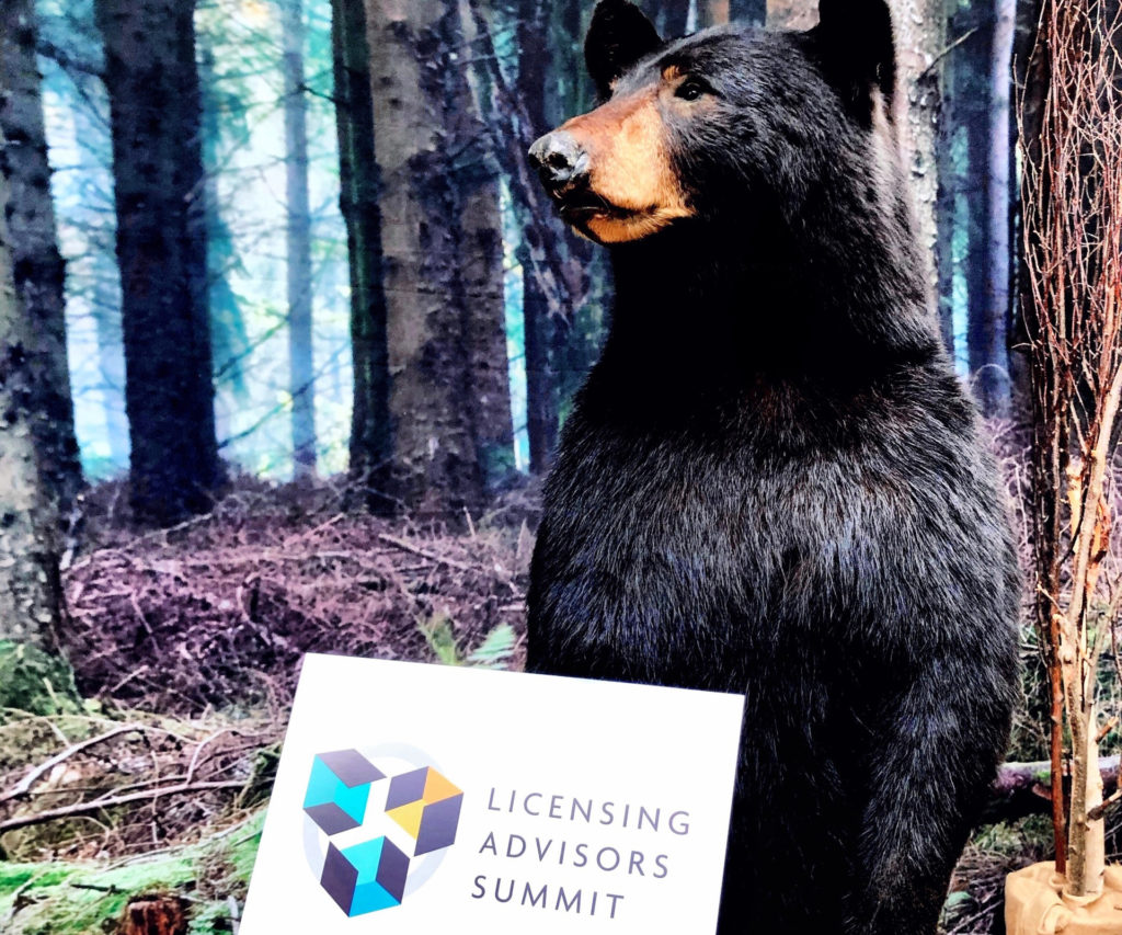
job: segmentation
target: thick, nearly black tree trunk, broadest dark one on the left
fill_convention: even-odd
[[[96,0],[113,136],[131,501],[140,522],[210,508],[214,437],[194,3]]]

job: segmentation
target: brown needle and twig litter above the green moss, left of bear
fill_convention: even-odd
[[[532,498],[468,524],[344,495],[239,479],[209,515],[138,534],[120,485],[90,493],[65,571],[88,700],[0,711],[0,859],[122,859],[245,821],[305,652],[521,668]]]

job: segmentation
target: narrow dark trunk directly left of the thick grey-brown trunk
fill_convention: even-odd
[[[375,161],[370,53],[362,0],[332,0],[331,43],[339,132],[340,201],[350,260],[355,403],[350,478],[368,508],[392,511],[389,348],[383,288],[380,178]]]

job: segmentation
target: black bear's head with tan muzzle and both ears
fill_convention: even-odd
[[[893,187],[884,0],[821,0],[806,33],[725,26],[672,42],[627,0],[601,0],[585,55],[603,103],[530,156],[586,237],[622,244],[687,219],[774,229],[776,211],[839,184],[866,208]]]

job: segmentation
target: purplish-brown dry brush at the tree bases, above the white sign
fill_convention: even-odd
[[[192,715],[284,705],[306,652],[431,659],[432,627],[468,651],[522,626],[533,540],[516,503],[450,533],[343,512],[331,487],[243,480],[211,515],[137,539],[118,495],[98,492],[96,544],[66,572],[86,697]]]

